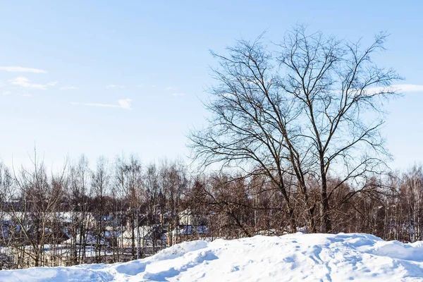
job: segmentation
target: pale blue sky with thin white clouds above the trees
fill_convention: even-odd
[[[209,50],[236,39],[278,42],[296,23],[364,42],[390,34],[376,57],[405,80],[386,104],[383,135],[406,169],[423,159],[421,1],[0,1],[0,159],[47,166],[85,154],[186,159],[204,124]]]

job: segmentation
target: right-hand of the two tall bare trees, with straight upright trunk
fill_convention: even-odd
[[[388,156],[379,132],[384,123],[381,102],[396,94],[390,85],[400,77],[372,61],[372,55],[384,50],[385,40],[386,35],[376,35],[362,48],[360,41],[345,42],[321,32],[307,35],[298,26],[278,45],[277,61],[284,71],[280,85],[302,109],[296,118],[302,136],[297,151],[309,159],[305,169],[319,180],[325,232],[332,230],[332,193],[347,181],[380,173]],[[329,173],[341,178],[331,192]]]

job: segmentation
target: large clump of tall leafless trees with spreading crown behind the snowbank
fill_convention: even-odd
[[[390,86],[400,76],[372,61],[385,40],[379,34],[362,47],[296,26],[280,44],[260,36],[238,41],[226,55],[212,52],[219,62],[207,103],[212,118],[192,130],[194,158],[266,176],[283,196],[292,231],[301,204],[311,231],[320,225],[331,232],[336,190],[365,183],[389,157],[380,135],[383,102],[396,95]],[[338,179],[330,191],[329,177]],[[319,186],[319,196],[310,197],[311,185]]]

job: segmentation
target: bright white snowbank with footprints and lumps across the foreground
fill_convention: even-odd
[[[0,271],[0,281],[423,281],[423,242],[343,233],[193,241],[123,264]]]

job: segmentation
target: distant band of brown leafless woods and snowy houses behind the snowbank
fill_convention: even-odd
[[[180,161],[142,164],[134,156],[100,158],[94,169],[81,157],[56,173],[36,158],[31,169],[0,165],[2,267],[123,262],[183,240],[293,232],[286,200],[265,175],[190,171]],[[285,183],[297,231],[324,231],[319,185],[309,185],[306,206],[295,178]],[[328,183],[331,233],[422,240],[422,166]]]

